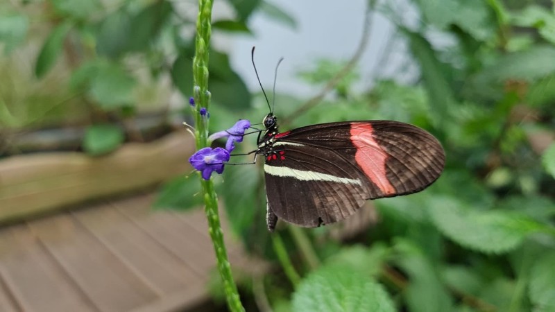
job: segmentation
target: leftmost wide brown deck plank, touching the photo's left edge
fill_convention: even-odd
[[[25,225],[3,230],[0,246],[1,275],[23,311],[98,311]],[[2,304],[1,311],[19,309]]]

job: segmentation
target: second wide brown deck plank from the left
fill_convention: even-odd
[[[69,216],[29,226],[101,311],[129,311],[157,300],[141,277]]]

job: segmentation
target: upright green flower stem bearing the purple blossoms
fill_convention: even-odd
[[[197,149],[207,146],[208,137],[208,119],[205,116],[200,116],[200,108],[205,107],[208,109],[210,106],[210,92],[208,92],[208,55],[210,51],[212,4],[212,0],[198,1],[195,57],[193,59],[193,94],[196,103],[195,138]],[[239,298],[237,285],[231,274],[228,252],[225,249],[225,243],[223,243],[223,232],[221,230],[218,214],[218,200],[216,191],[214,190],[214,183],[212,180],[203,180],[200,173],[198,177],[200,178],[203,188],[208,232],[212,239],[212,245],[214,245],[214,252],[216,252],[217,266],[223,282],[225,299],[228,302],[230,311],[245,311]]]

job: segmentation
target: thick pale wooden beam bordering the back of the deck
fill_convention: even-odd
[[[194,139],[185,130],[104,157],[45,153],[0,159],[0,221],[153,185],[188,170]]]

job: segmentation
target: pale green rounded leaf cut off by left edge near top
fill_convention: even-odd
[[[29,28],[29,19],[17,12],[3,12],[0,15],[0,44],[4,52],[10,53],[24,42]]]

